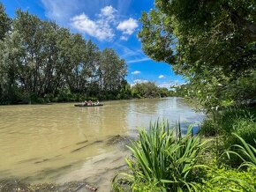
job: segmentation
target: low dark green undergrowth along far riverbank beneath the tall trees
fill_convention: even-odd
[[[87,90],[87,92],[89,92]],[[56,93],[47,93],[38,95],[35,93],[19,93],[12,100],[6,100],[1,97],[0,105],[10,104],[43,104],[43,103],[58,103],[58,102],[81,102],[85,100],[132,100],[144,98],[164,98],[172,95],[172,92],[167,88],[158,87],[153,82],[137,83],[135,85],[125,84],[116,91],[101,91],[94,94],[86,92],[72,92],[70,89],[61,89]]]

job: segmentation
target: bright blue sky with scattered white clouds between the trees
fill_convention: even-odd
[[[128,64],[130,84],[154,81],[157,85],[182,83],[169,64],[155,63],[141,50],[137,33],[142,11],[154,8],[154,0],[0,0],[14,17],[21,8],[41,19],[55,20],[72,33],[81,33],[99,48],[114,48]]]

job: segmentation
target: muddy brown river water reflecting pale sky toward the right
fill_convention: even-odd
[[[103,107],[2,106],[0,177],[33,183],[87,179],[107,188],[127,155],[127,140],[119,136],[136,137],[136,127],[158,118],[190,123],[204,114],[179,98],[109,101]],[[109,144],[113,137],[118,144]]]

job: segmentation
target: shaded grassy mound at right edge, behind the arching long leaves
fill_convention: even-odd
[[[227,109],[219,113],[216,120],[205,120],[200,129],[200,133],[206,137],[220,135],[223,137],[225,148],[232,144],[240,144],[232,133],[245,139],[248,144],[254,144],[256,138],[256,111],[255,109]]]

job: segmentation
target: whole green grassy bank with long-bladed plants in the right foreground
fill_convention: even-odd
[[[203,122],[200,134],[156,123],[129,146],[130,172],[114,191],[256,191],[256,110],[229,109]]]

